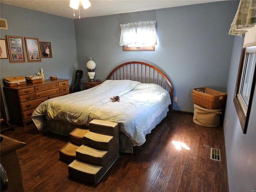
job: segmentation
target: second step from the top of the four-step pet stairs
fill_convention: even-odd
[[[112,148],[113,136],[88,132],[83,137],[83,144],[94,149],[109,151]]]

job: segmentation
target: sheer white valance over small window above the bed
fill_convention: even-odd
[[[120,45],[152,46],[156,45],[156,21],[140,21],[120,24]]]

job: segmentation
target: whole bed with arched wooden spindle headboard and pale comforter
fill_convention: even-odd
[[[120,102],[110,97],[119,96]],[[120,152],[146,141],[146,134],[172,111],[173,87],[158,68],[145,62],[117,66],[102,84],[46,100],[32,114],[40,131],[68,135],[93,119],[119,125]]]

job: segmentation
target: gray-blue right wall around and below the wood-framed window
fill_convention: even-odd
[[[224,117],[230,192],[251,192],[256,190],[256,89],[254,90],[246,134],[242,132],[233,102],[242,44],[243,38],[236,36],[228,76],[228,98]],[[227,120],[228,126],[226,126]]]

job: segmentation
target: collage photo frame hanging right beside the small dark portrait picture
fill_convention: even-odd
[[[38,38],[25,37],[28,62],[42,62]]]

